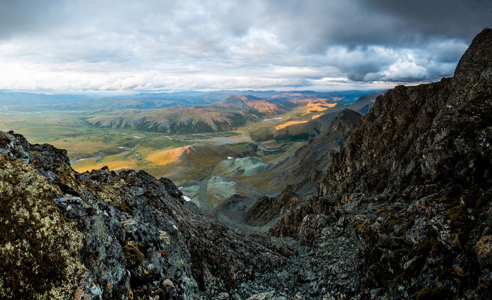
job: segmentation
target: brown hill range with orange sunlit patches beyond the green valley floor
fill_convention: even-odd
[[[286,140],[317,136],[330,126],[343,109],[365,114],[381,93],[362,96],[357,101],[352,91],[347,96],[341,92],[321,95],[311,91],[277,92],[277,95],[269,98],[232,95],[214,103],[195,106],[187,106],[180,101],[105,97],[100,101],[85,100],[54,107],[71,107],[74,110],[80,110],[81,106],[105,107],[87,112],[86,121],[96,127],[184,134],[230,131],[253,126],[248,127],[247,131],[258,140]],[[264,118],[270,120],[271,117],[274,117],[274,121],[259,122]],[[253,124],[258,122],[260,124]]]

